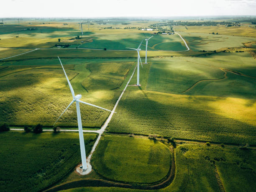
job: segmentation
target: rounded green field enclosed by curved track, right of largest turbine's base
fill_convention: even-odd
[[[107,135],[92,156],[92,166],[108,179],[153,183],[169,172],[171,158],[169,149],[161,142]]]

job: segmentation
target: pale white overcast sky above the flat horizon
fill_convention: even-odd
[[[256,15],[256,0],[0,0],[5,17]]]

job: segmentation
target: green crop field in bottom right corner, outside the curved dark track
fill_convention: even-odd
[[[176,149],[177,172],[164,191],[219,191],[219,172],[225,191],[254,191],[254,150],[220,146],[181,145]],[[235,177],[234,177],[235,176]]]

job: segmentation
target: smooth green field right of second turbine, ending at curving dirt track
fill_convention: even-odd
[[[178,57],[150,59],[146,90],[180,94],[201,79],[224,77],[224,72],[218,68],[184,60]]]

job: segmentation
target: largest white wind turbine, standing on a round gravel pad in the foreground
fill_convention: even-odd
[[[59,56],[58,56],[59,58]],[[59,59],[60,63],[61,63],[61,60]],[[80,114],[80,106],[79,106],[79,103],[84,103],[86,105],[91,105],[93,107],[96,107],[96,108],[100,108],[100,109],[104,109],[104,110],[107,110],[107,111],[110,111],[108,109],[105,109],[105,108],[101,108],[97,105],[92,105],[90,103],[87,103],[87,102],[84,102],[84,101],[80,101],[79,99],[81,99],[82,95],[74,95],[74,90],[69,82],[69,79],[67,77],[67,74],[64,70],[64,67],[61,63],[61,67],[64,71],[64,74],[67,78],[67,82],[69,84],[69,88],[70,88],[70,91],[71,91],[71,94],[72,94],[72,97],[73,97],[73,100],[72,102],[67,106],[67,108],[61,113],[61,115],[63,115],[63,113],[65,113],[65,111],[73,104],[73,102],[76,102],[76,105],[77,105],[77,123],[78,123],[78,131],[79,131],[79,141],[80,141],[80,150],[81,150],[81,158],[82,158],[82,170],[86,170],[87,169],[87,163],[86,163],[86,154],[85,154],[85,147],[84,147],[84,135],[83,135],[83,128],[82,128],[82,120],[81,120],[81,114]],[[111,112],[111,111],[110,111]],[[116,113],[116,112],[115,112]],[[61,115],[59,116],[59,118],[61,117]],[[55,123],[59,120],[59,118],[55,121]],[[54,123],[54,125],[55,125]]]

